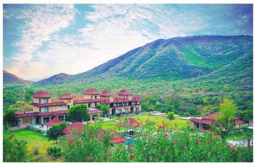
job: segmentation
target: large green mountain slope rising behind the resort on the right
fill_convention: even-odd
[[[143,97],[151,93],[183,98],[236,99],[252,105],[252,36],[186,36],[159,39],[131,50],[87,72],[55,75],[35,88],[73,94],[87,88]],[[54,79],[53,79],[54,78]],[[61,81],[60,81],[61,80]],[[248,104],[249,103],[249,104]]]

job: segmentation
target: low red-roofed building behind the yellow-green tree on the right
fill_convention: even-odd
[[[190,118],[189,121],[191,122],[193,127],[196,128],[202,128],[202,129],[209,129],[210,125],[217,125],[216,121],[215,121],[215,117],[220,113],[220,111],[209,114],[207,116],[204,117],[200,117],[200,118]],[[241,124],[245,124],[244,121],[239,120],[238,117],[236,117],[236,123],[237,125],[241,125]]]

